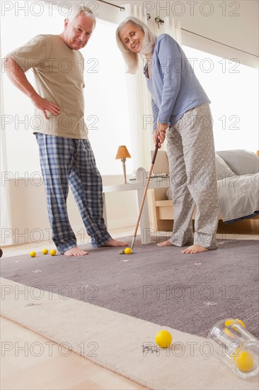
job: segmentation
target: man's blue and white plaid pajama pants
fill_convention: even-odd
[[[103,220],[103,184],[88,140],[37,133],[52,239],[61,254],[76,246],[69,223],[69,186],[93,247],[111,239]]]

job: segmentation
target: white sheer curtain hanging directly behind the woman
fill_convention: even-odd
[[[146,23],[155,35],[167,33],[179,44],[180,22],[175,24],[173,18],[164,18],[164,23],[158,26],[154,20],[147,21],[140,6],[125,5],[125,11],[120,12],[120,22],[128,16],[135,16]],[[133,167],[149,169],[151,163],[150,151],[154,150],[152,139],[153,113],[151,108],[151,94],[146,87],[146,80],[143,74],[144,64],[139,62],[139,69],[136,74],[127,74],[127,91],[129,101],[129,123],[131,128],[131,143],[133,154]],[[163,149],[166,147],[162,145]]]

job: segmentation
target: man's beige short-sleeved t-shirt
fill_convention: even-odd
[[[32,68],[38,94],[61,108],[58,116],[47,112],[49,119],[36,108],[33,133],[86,139],[84,122],[84,57],[71,50],[59,35],[37,35],[12,57],[26,72]]]

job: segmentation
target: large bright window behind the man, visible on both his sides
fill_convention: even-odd
[[[42,8],[40,2],[16,1],[5,9],[1,28],[2,55],[24,45],[33,36],[62,33],[66,10]],[[52,11],[52,16],[50,16]],[[122,174],[115,160],[117,147],[131,152],[125,65],[115,42],[112,23],[98,19],[96,30],[82,50],[85,58],[85,121],[89,140],[101,174]],[[4,112],[1,128],[6,138],[7,169],[15,177],[40,172],[38,144],[33,135],[34,106],[30,99],[3,76]],[[26,73],[34,84],[33,72]],[[127,162],[128,172],[132,161]]]

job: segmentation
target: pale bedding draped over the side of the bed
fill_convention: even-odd
[[[217,180],[219,208],[224,222],[259,211],[259,173]]]

